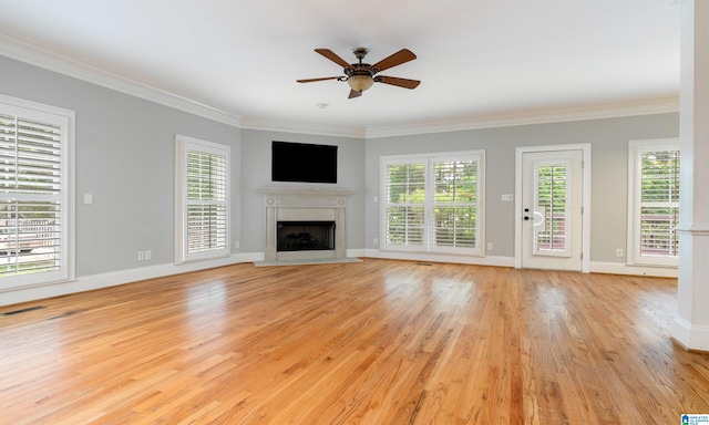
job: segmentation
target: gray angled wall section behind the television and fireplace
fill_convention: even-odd
[[[271,182],[270,145],[273,141],[338,146],[337,184]],[[352,189],[347,200],[347,248],[364,247],[364,146],[360,138],[320,136],[298,133],[242,131],[242,251],[264,252],[266,246],[266,208],[259,187],[323,187]]]

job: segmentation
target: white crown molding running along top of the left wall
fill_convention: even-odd
[[[112,89],[204,118],[240,127],[242,117],[194,100],[152,87],[110,70],[58,53],[45,45],[0,31],[0,55]]]

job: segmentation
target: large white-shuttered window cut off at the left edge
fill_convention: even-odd
[[[0,95],[0,287],[73,273],[74,113]]]

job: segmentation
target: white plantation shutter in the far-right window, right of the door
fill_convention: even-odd
[[[643,152],[640,164],[640,256],[677,257],[679,151]]]

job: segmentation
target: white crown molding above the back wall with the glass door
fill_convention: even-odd
[[[414,134],[460,132],[516,125],[549,124],[571,121],[617,118],[679,112],[679,96],[605,105],[524,111],[512,114],[470,116],[418,125],[367,127],[366,138],[409,136]]]

